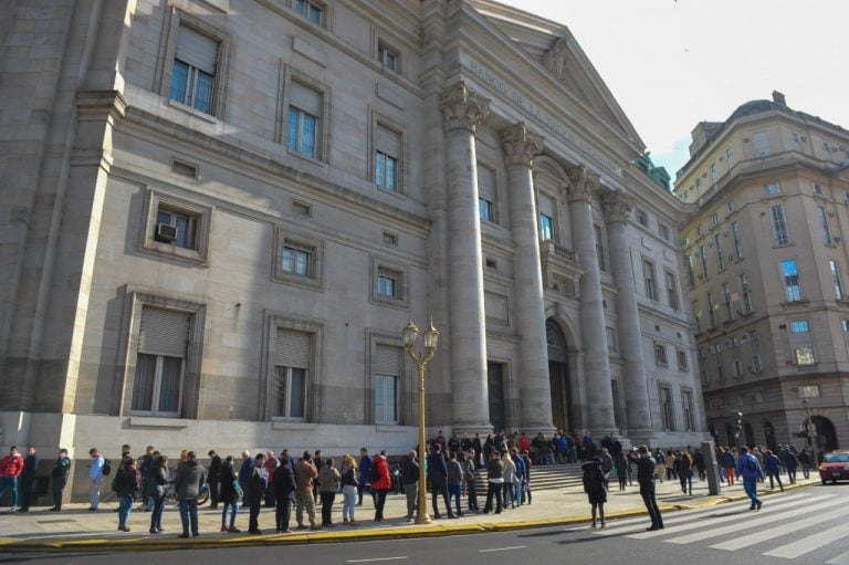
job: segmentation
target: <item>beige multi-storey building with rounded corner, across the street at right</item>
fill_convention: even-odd
[[[675,193],[708,423],[734,443],[849,447],[849,133],[784,95],[693,130]],[[806,412],[808,410],[808,412]]]

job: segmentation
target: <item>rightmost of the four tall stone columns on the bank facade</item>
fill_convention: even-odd
[[[621,190],[605,190],[601,202],[607,219],[610,264],[618,292],[616,313],[619,317],[620,353],[625,360],[622,391],[628,412],[627,433],[635,443],[648,443],[654,437],[654,430],[651,427],[640,315],[637,310],[637,292],[633,286],[631,257],[626,233],[628,215],[631,211],[631,199]]]

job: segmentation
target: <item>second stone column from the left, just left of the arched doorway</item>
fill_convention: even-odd
[[[510,228],[514,247],[514,292],[518,348],[518,389],[522,431],[551,433],[552,393],[545,339],[543,270],[531,165],[543,149],[543,138],[516,124],[501,133],[507,166]]]

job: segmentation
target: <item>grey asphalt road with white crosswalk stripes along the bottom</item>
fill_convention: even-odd
[[[668,513],[665,527],[647,532],[644,516],[609,521],[605,530],[588,524],[503,533],[368,543],[283,547],[189,550],[88,555],[2,555],[0,563],[115,565],[155,563],[314,563],[492,565],[533,559],[535,565],[849,565],[849,526],[845,516],[849,485],[827,485],[765,499],[763,510],[747,502]]]

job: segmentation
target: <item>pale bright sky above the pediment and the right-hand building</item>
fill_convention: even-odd
[[[847,0],[500,1],[572,31],[673,179],[699,122],[773,91],[849,128]]]

